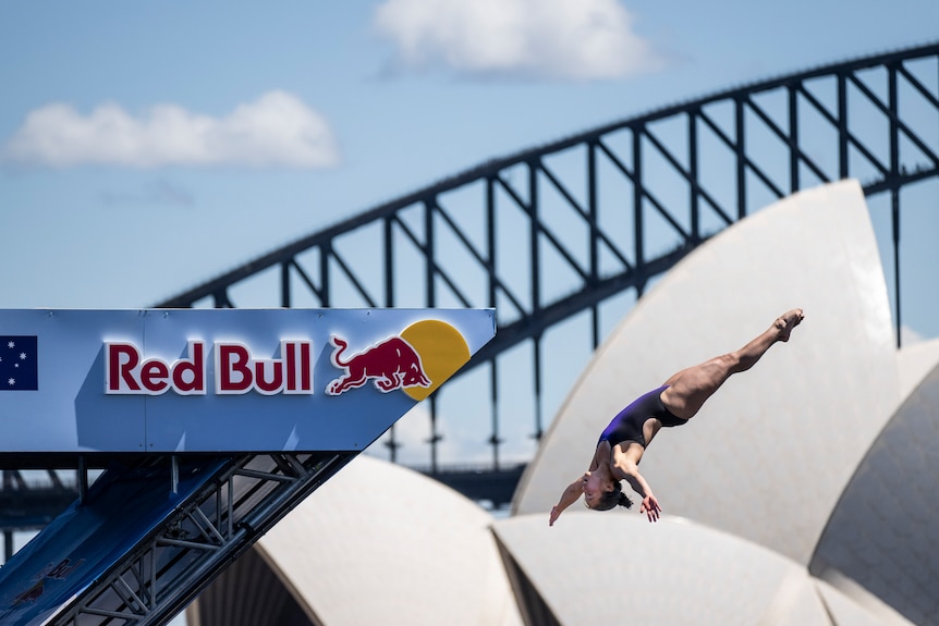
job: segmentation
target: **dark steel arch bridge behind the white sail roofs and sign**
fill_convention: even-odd
[[[499,506],[593,351],[659,277],[754,211],[847,177],[867,196],[899,346],[906,318],[926,315],[913,295],[936,291],[919,278],[936,250],[911,249],[905,235],[939,241],[939,42],[493,159],[153,304],[495,308],[495,340],[404,418],[420,421],[408,431],[418,439],[399,426],[378,450]],[[71,483],[59,464],[10,463],[0,490],[8,559],[12,532],[48,524],[87,470],[75,468]],[[26,469],[48,479],[37,487]]]

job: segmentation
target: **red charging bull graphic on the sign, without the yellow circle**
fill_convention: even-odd
[[[329,395],[339,395],[362,386],[369,379],[385,393],[401,388],[430,386],[420,355],[400,336],[378,342],[347,359],[343,359],[342,355],[349,342],[336,335],[329,341],[336,348],[330,357],[332,365],[345,370],[343,376],[327,385],[326,393]]]

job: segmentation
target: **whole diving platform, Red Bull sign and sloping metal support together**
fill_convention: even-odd
[[[491,309],[0,311],[25,371],[0,466],[78,476],[0,568],[0,623],[166,624],[493,334]]]

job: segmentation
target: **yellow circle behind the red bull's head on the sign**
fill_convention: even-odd
[[[401,331],[401,339],[420,356],[430,386],[406,386],[404,393],[416,401],[430,395],[470,360],[470,346],[460,331],[440,320],[422,320]]]

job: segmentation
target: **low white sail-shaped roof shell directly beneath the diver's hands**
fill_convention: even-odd
[[[549,528],[540,515],[522,515],[497,521],[495,532],[511,567],[565,625],[908,626],[771,550],[674,516],[653,526],[578,511]]]

